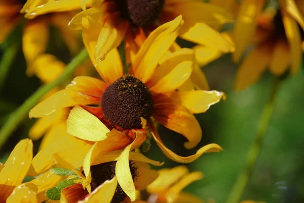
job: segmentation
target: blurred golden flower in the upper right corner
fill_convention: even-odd
[[[282,0],[278,11],[268,8],[262,13],[264,0],[242,1],[234,30],[234,60],[241,58],[252,41],[255,47],[238,70],[236,89],[255,83],[267,67],[276,76],[284,74],[289,66],[291,74],[298,72],[303,40],[300,29],[304,29],[304,7],[300,2]]]

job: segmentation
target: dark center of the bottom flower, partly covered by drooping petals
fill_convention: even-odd
[[[116,161],[101,163],[98,165],[91,166],[91,189],[94,191],[99,185],[104,183],[106,180],[110,180],[115,177],[115,166]],[[133,181],[138,177],[137,166],[135,163],[129,162],[130,171]],[[127,194],[123,191],[121,186],[118,184],[115,194],[111,200],[111,203],[122,202],[127,197]]]

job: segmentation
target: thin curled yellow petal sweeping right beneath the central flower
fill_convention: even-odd
[[[204,153],[219,152],[220,150],[222,150],[222,148],[219,145],[213,143],[213,144],[205,145],[204,147],[200,148],[194,155],[182,157],[182,156],[175,154],[167,147],[165,147],[165,145],[161,141],[157,131],[151,127],[150,127],[150,129],[152,130],[152,135],[153,135],[154,140],[156,141],[157,145],[161,148],[161,150],[166,154],[166,156],[168,158],[170,158],[171,160],[179,162],[179,163],[190,163],[190,162],[195,161],[197,158],[199,158]]]

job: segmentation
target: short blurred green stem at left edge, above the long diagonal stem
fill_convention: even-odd
[[[0,90],[4,85],[6,77],[10,71],[10,67],[12,66],[14,58],[18,53],[18,50],[19,43],[15,43],[9,46],[3,54],[2,60],[0,62]]]

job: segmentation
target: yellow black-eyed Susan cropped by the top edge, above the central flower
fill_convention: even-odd
[[[30,1],[39,2],[39,1]],[[234,50],[212,27],[217,28],[232,21],[232,15],[223,9],[199,1],[47,1],[41,6],[32,5],[23,9],[26,18],[79,8],[84,11],[70,21],[73,29],[83,30],[83,41],[94,63],[103,60],[106,54],[117,47],[125,37],[126,49],[131,57],[139,50],[146,34],[179,15],[185,19],[179,37],[197,44],[215,48],[221,52]],[[86,7],[89,8],[86,10]],[[191,12],[189,12],[191,11]],[[201,15],[204,13],[204,15]],[[94,49],[92,49],[94,48]]]

